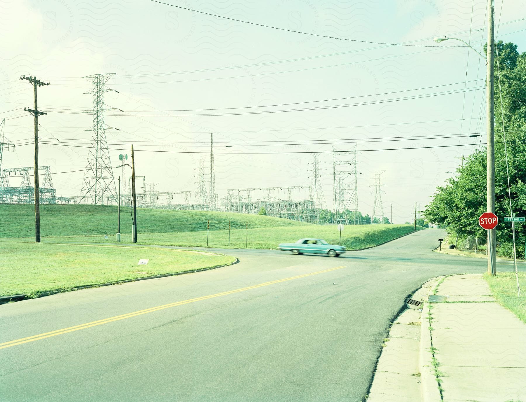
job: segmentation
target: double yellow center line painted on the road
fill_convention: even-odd
[[[275,281],[259,283],[257,285],[248,286],[246,288],[239,288],[239,289],[229,290],[229,291],[226,291],[226,292],[209,294],[207,296],[201,296],[201,297],[194,298],[194,299],[187,299],[187,300],[178,301],[178,302],[174,302],[174,303],[163,304],[163,305],[159,305],[159,306],[156,306],[156,307],[151,307],[149,309],[144,309],[144,310],[134,311],[134,312],[131,312],[131,313],[116,315],[114,317],[106,318],[106,319],[103,319],[103,320],[92,321],[92,322],[88,322],[88,323],[85,323],[85,324],[79,324],[79,325],[75,325],[75,326],[70,326],[70,327],[67,327],[67,328],[60,329],[60,330],[45,332],[43,334],[27,336],[25,338],[16,339],[14,341],[8,341],[8,342],[0,343],[0,349],[4,349],[6,347],[11,347],[11,346],[16,346],[16,345],[21,345],[23,343],[38,341],[38,340],[49,338],[49,337],[52,337],[52,336],[66,334],[68,332],[84,330],[84,329],[92,327],[92,326],[97,326],[97,325],[107,324],[109,322],[124,320],[124,319],[127,319],[127,318],[135,317],[137,315],[147,314],[147,313],[152,313],[154,311],[168,309],[170,307],[175,307],[175,306],[188,304],[188,303],[194,303],[194,302],[201,301],[201,300],[213,299],[213,298],[217,298],[217,297],[220,297],[220,296],[225,296],[227,294],[244,292],[244,291],[247,291],[247,290],[257,289],[257,288],[261,288],[261,287],[264,287],[264,286],[268,286],[268,285],[272,285],[272,284],[276,284],[276,283],[280,283],[280,282],[291,281],[293,279],[310,277],[312,275],[317,275],[319,273],[324,273],[324,272],[330,272],[330,271],[334,271],[334,270],[341,269],[341,268],[345,268],[345,266],[329,268],[329,269],[325,269],[325,270],[322,270],[322,271],[316,271],[316,272],[306,273],[306,274],[303,274],[303,275],[297,275],[295,277],[290,277],[290,278],[285,278],[285,279],[278,279],[278,280],[275,280]]]

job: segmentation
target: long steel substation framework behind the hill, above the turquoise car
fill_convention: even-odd
[[[297,193],[304,197],[296,198]],[[265,208],[269,216],[311,223],[316,222],[318,216],[311,186],[229,189],[220,205],[223,211],[240,214],[258,214]]]

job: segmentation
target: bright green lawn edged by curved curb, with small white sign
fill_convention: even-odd
[[[164,273],[217,267],[234,257],[160,248],[36,243],[0,244],[0,296],[70,290]],[[148,265],[137,265],[148,259]]]

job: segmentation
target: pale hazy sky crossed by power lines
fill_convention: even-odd
[[[33,117],[23,110],[33,105],[33,89],[19,79],[24,74],[49,82],[38,89],[39,109],[48,113],[39,118],[39,164],[57,173],[62,196],[83,187],[83,172],[59,172],[86,168],[92,83],[82,77],[97,73],[115,73],[105,104],[122,110],[105,118],[119,129],[106,131],[113,166],[134,144],[136,174],[160,192],[197,190],[198,163],[208,166],[214,133],[219,198],[227,189],[311,185],[317,152],[330,208],[331,152],[356,145],[359,209],[372,214],[381,173],[385,215],[392,205],[393,222],[404,223],[414,203],[423,209],[459,158],[486,141],[484,60],[460,41],[432,40],[457,37],[482,51],[485,1],[167,3],[310,35],[149,0],[5,0],[0,118],[19,146],[4,152],[2,167],[33,165]],[[520,52],[524,15],[524,2],[495,1],[497,39]],[[309,103],[284,105],[298,102]],[[284,111],[313,107],[323,109]]]

